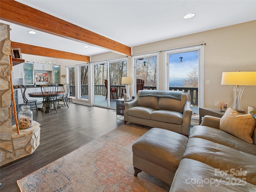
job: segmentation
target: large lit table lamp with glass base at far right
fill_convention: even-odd
[[[244,87],[239,87],[240,85],[245,86],[256,86],[256,72],[223,72],[222,85],[236,85],[230,86],[233,94],[233,100],[230,108],[244,113],[244,109],[241,104],[241,96],[244,91]]]

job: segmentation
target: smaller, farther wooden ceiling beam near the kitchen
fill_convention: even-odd
[[[44,48],[44,47],[39,47],[34,45],[28,45],[24,43],[11,42],[11,47],[20,48],[21,52],[24,54],[60,58],[60,59],[70,59],[70,60],[76,60],[76,61],[84,61],[88,63],[90,62],[90,56],[80,55],[80,54],[55,50],[55,49],[49,49],[49,48]]]

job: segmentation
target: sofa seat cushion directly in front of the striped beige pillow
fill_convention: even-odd
[[[222,144],[238,151],[256,155],[256,145],[231,135],[220,129],[207,126],[194,126],[189,138],[202,138],[218,144]]]

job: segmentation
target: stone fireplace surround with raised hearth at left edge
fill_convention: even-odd
[[[10,43],[10,26],[0,23],[0,166],[32,154],[40,143],[38,122],[20,134],[12,126]]]

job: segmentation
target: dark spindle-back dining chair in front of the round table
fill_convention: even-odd
[[[47,109],[49,109],[49,112],[50,110],[54,109],[56,113],[58,113],[56,108],[58,84],[44,84],[41,86],[41,91],[43,95],[42,113],[43,114],[45,113],[46,106],[47,106]]]

